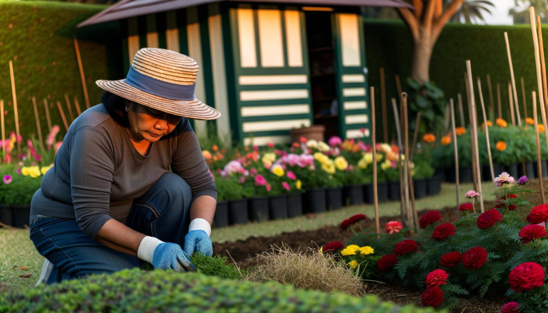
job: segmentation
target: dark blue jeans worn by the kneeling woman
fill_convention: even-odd
[[[189,184],[177,174],[165,173],[133,201],[125,225],[184,247],[191,201]],[[84,234],[74,219],[38,215],[30,227],[30,238],[38,252],[53,264],[44,280],[47,284],[140,266],[137,257],[103,246]]]

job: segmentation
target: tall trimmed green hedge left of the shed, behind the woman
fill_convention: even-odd
[[[78,38],[90,105],[98,104],[102,94],[95,85],[96,79],[119,78],[122,69],[119,23],[76,29],[78,22],[107,7],[57,1],[0,2],[0,98],[4,99],[7,111],[5,127],[8,134],[15,131],[8,60],[13,61],[19,122],[25,140],[36,133],[32,96],[36,96],[44,139],[48,133],[44,98],[48,98],[53,124],[61,126],[58,138],[62,138],[65,129],[56,101],[61,101],[67,118],[65,93],[72,105],[76,95],[80,107],[85,110],[73,34]],[[76,109],[72,109],[76,115]]]

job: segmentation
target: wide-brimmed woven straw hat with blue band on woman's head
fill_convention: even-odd
[[[194,96],[198,64],[184,54],[158,48],[142,48],[133,58],[125,79],[95,83],[125,99],[173,115],[215,119],[221,113]]]

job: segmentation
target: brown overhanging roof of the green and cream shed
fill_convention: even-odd
[[[402,0],[122,0],[81,22],[77,25],[77,27],[133,18],[134,16],[165,12],[175,9],[195,7],[200,4],[221,1],[291,3],[300,5],[329,6],[344,5],[352,7],[413,8],[412,5],[403,2]]]

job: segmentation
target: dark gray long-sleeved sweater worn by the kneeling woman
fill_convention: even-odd
[[[78,116],[68,129],[31,202],[30,223],[37,215],[76,219],[95,239],[109,219],[125,222],[133,200],[145,194],[164,173],[180,175],[192,189],[192,201],[217,197],[217,189],[190,122],[182,118],[172,133],[152,143],[147,156],[132,144],[128,130],[102,104]],[[31,225],[29,224],[29,225]]]

